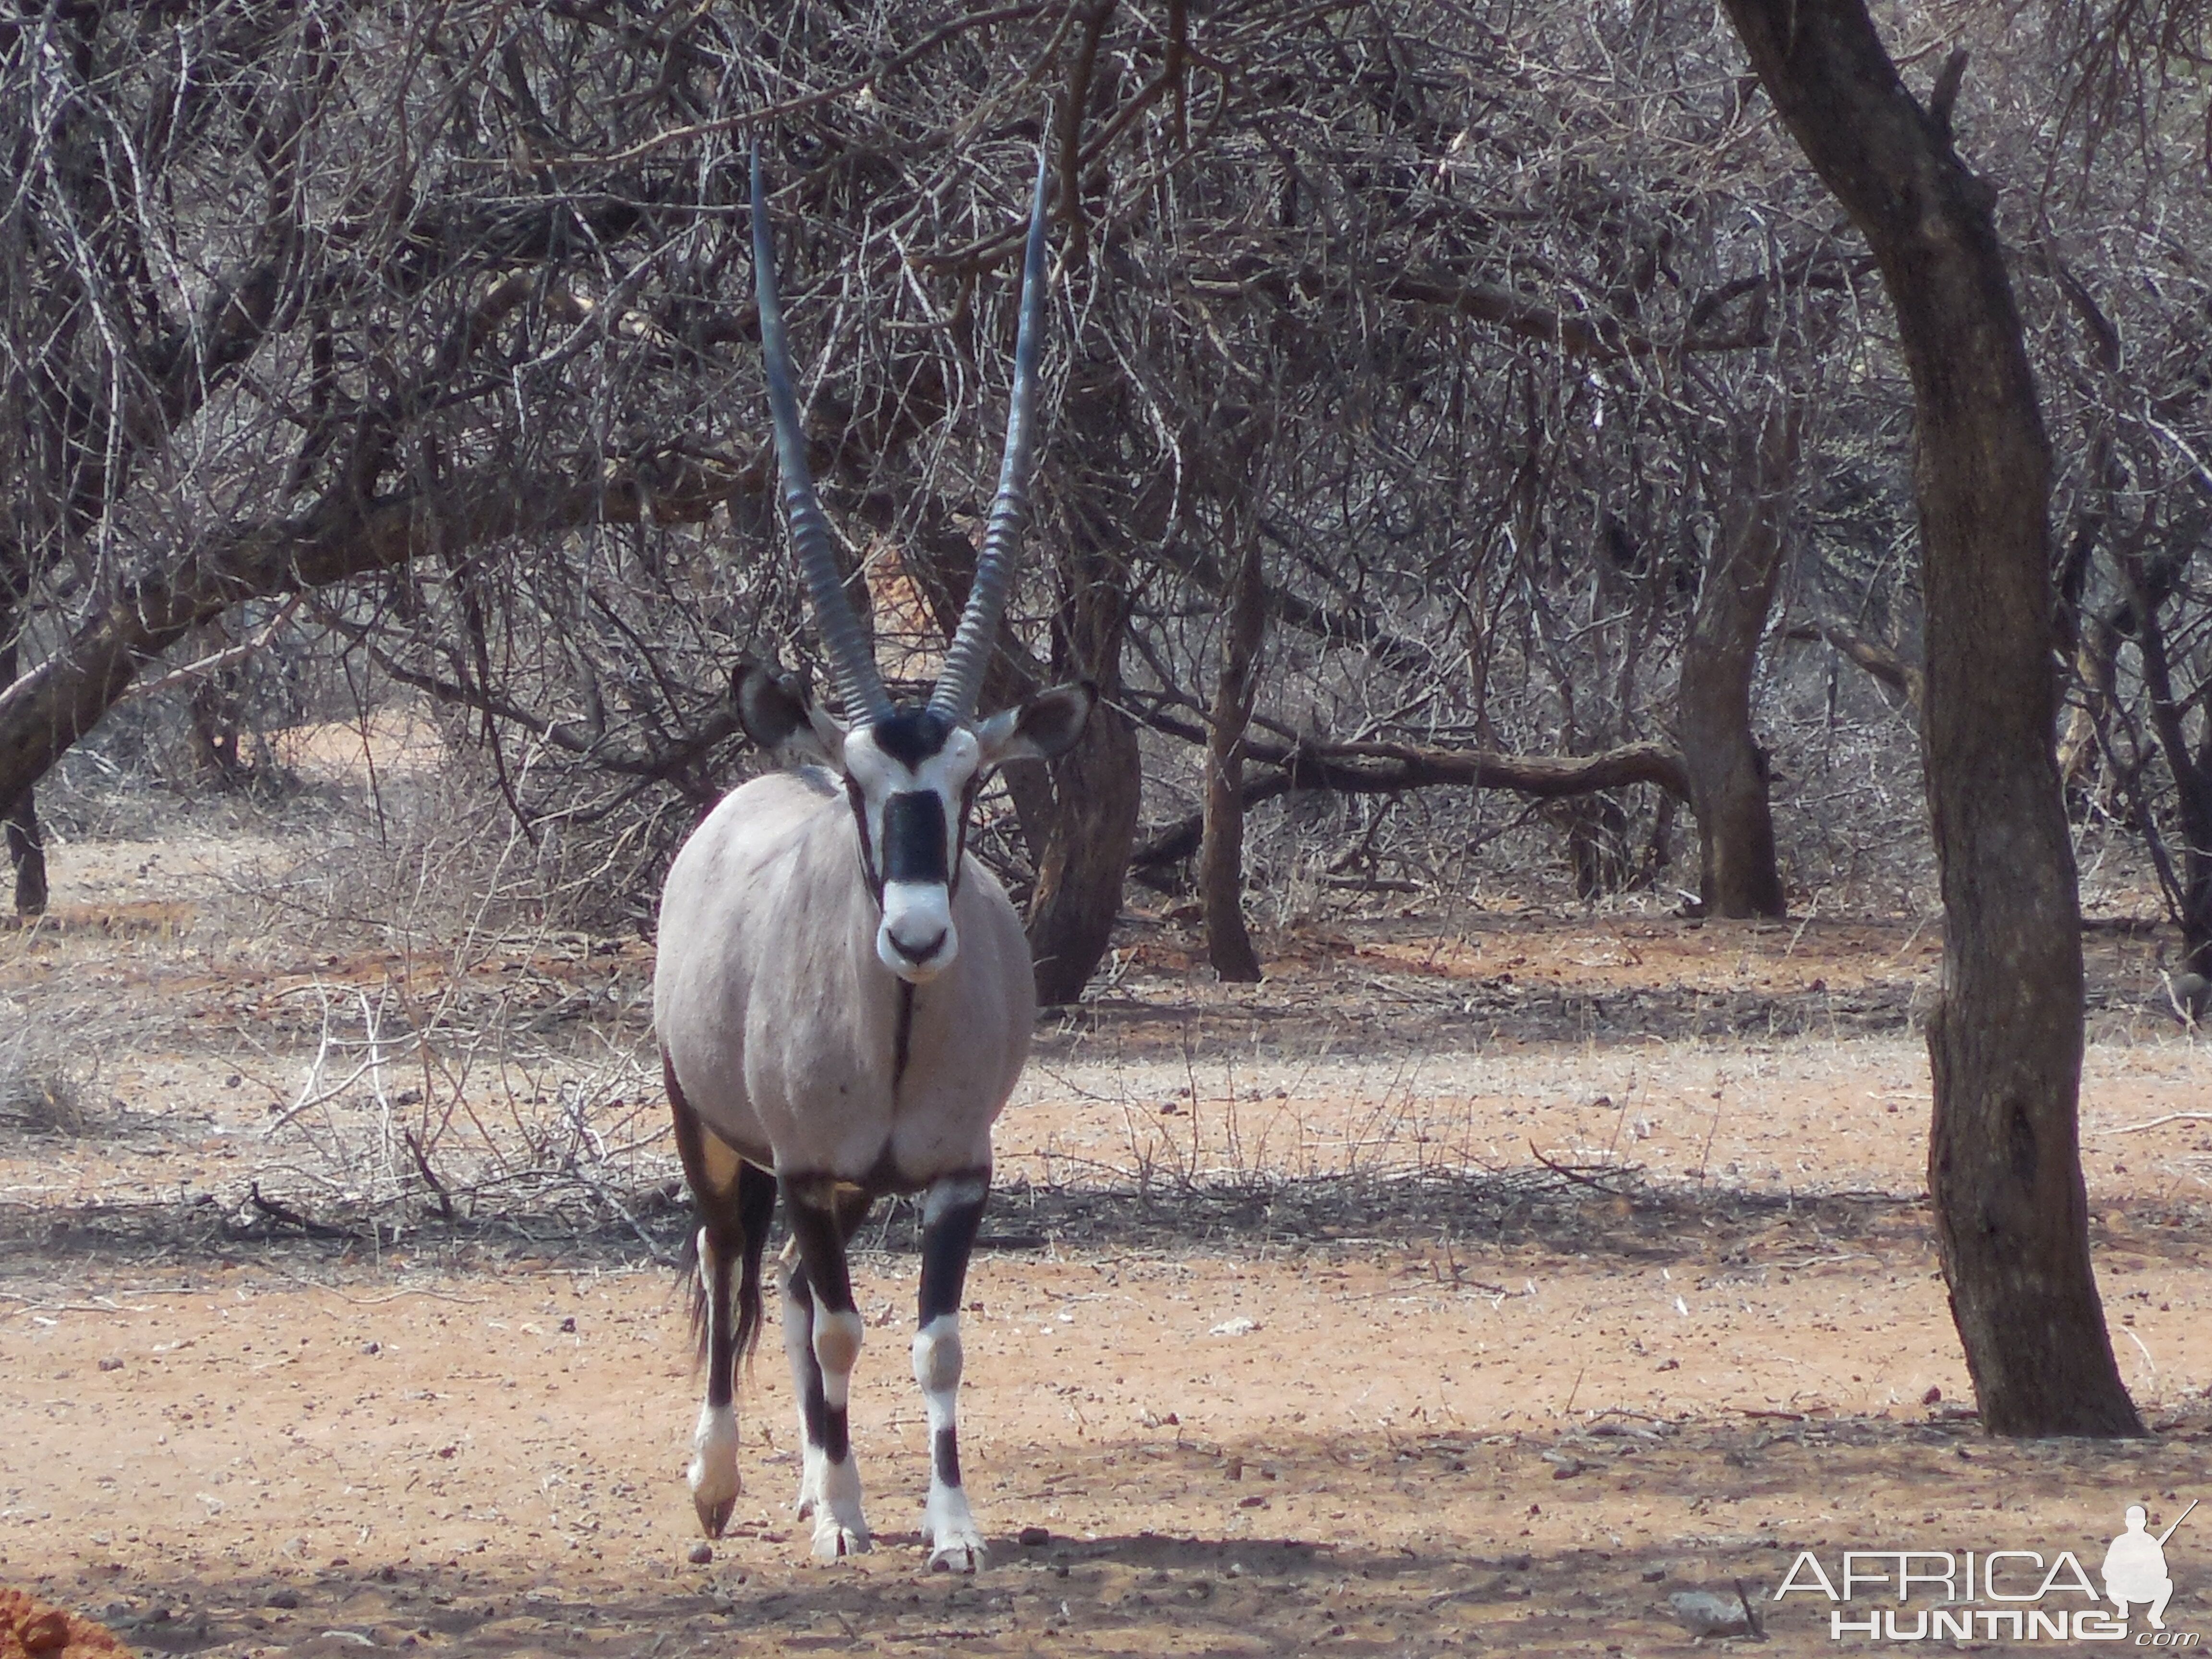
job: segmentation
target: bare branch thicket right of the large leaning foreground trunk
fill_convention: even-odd
[[[2212,272],[2205,18],[2190,4],[2057,7],[1993,53],[2022,310],[2055,440],[2055,557],[2070,666],[2059,763],[2108,880],[2163,898],[2183,969],[2212,967]],[[1971,84],[1971,80],[1969,80]],[[2059,86],[2057,102],[2037,88]]]

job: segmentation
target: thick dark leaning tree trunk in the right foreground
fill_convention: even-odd
[[[1913,380],[1924,761],[1944,896],[1929,1192],[1991,1433],[2141,1433],[2088,1259],[2081,916],[2053,754],[2051,447],[1995,230],[1863,0],[1728,0],[1752,66],[1882,270]]]

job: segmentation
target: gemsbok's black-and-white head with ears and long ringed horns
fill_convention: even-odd
[[[925,984],[953,964],[960,936],[953,894],[967,847],[969,810],[991,768],[1044,761],[1082,737],[1095,692],[1055,686],[1020,708],[975,719],[984,666],[998,644],[1029,515],[1029,456],[1035,438],[1037,349],[1044,332],[1044,166],[1022,259],[1022,323],[1013,349],[1013,398],[998,500],[975,555],[975,584],[927,703],[894,703],[876,672],[867,633],[838,575],[834,535],[807,471],[792,358],[776,299],[776,254],[768,228],[761,157],[752,155],[752,259],[761,303],[768,407],[783,469],[792,551],[830,655],[845,717],[810,706],[794,686],[754,664],[737,672],[737,708],[761,748],[785,748],[845,781],[860,836],[860,867],[876,896],[876,956],[898,978]]]

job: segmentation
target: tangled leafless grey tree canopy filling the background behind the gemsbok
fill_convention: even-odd
[[[1936,11],[1891,44],[1916,86],[1973,49],[1953,119],[2059,451],[2075,803],[2152,832],[2181,905],[2212,845],[2174,790],[2212,772],[2201,173],[2177,184],[2203,111],[2093,97],[2150,35],[2046,22]],[[1918,659],[1909,396],[1865,243],[1710,13],[80,4],[0,24],[0,799],[199,664],[164,695],[219,772],[254,710],[422,697],[533,834],[644,887],[737,768],[732,661],[812,661],[748,146],[894,677],[933,668],[995,482],[1042,148],[1051,427],[993,690],[1088,675],[1144,728],[1139,874],[1197,849],[1250,551],[1243,785],[1285,805],[1248,880],[1462,883],[1531,845],[1586,891],[1661,878],[1663,783],[1438,805],[1327,768],[1679,748],[1734,458],[1787,405],[1752,684],[1783,869],[1863,880],[1871,847],[1911,878],[1911,703],[1854,666]],[[987,845],[1018,878],[1097,856],[1013,785]]]

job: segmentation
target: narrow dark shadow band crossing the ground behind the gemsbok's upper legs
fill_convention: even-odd
[[[422,1263],[451,1254],[553,1261],[681,1261],[690,1210],[681,1192],[655,1186],[611,1194],[615,1214],[568,1206],[493,1219],[411,1217],[394,1228],[378,1214],[321,1219],[294,1206],[239,1194],[173,1201],[0,1201],[0,1248],[42,1263],[243,1261],[279,1250],[372,1265],[405,1241]],[[1931,1241],[1924,1194],[1774,1192],[1701,1183],[1646,1183],[1635,1170],[1537,1170],[1420,1175],[1332,1175],[1270,1181],[1157,1181],[1144,1188],[1033,1186],[993,1192],[982,1250],[1336,1250],[1398,1248],[1535,1250],[1617,1265],[1699,1259],[1721,1267],[1812,1265],[1823,1254],[1920,1254]],[[2190,1259],[2212,1243],[2212,1206],[2174,1197],[2108,1203],[2090,1225],[2099,1250]],[[856,1241],[863,1250],[920,1248],[920,1206],[878,1206]],[[1467,1283],[1475,1283],[1469,1279]]]

